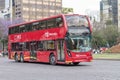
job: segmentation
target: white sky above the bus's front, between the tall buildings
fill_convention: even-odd
[[[62,0],[62,6],[73,8],[74,13],[86,14],[87,11],[99,11],[101,0]]]

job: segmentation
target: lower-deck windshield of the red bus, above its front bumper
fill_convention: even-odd
[[[91,50],[90,37],[66,37],[68,50],[73,52],[87,52]]]

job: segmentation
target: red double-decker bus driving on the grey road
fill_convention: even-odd
[[[9,27],[9,59],[74,65],[92,60],[87,16],[58,15]]]

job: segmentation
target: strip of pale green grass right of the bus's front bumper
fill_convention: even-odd
[[[120,59],[120,53],[93,54],[94,59]]]

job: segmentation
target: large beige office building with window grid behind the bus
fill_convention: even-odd
[[[11,0],[10,3],[13,20],[38,20],[62,12],[62,0]]]

